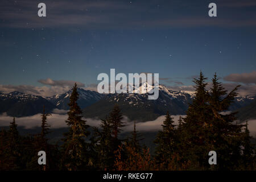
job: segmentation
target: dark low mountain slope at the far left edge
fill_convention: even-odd
[[[51,102],[41,96],[32,96],[21,92],[9,94],[0,93],[0,113],[7,113],[13,117],[24,117],[42,113],[43,105],[50,113],[55,108]]]

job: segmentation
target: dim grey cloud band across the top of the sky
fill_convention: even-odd
[[[222,0],[223,1],[223,0]],[[240,27],[256,26],[255,17],[243,16],[238,13],[238,18],[233,16],[220,16],[217,19],[209,20],[208,17],[197,15],[196,11],[201,9],[202,3],[197,7],[197,3],[191,5],[190,2],[168,2],[166,7],[161,6],[162,12],[170,11],[170,15],[159,13],[154,5],[138,1],[129,3],[126,1],[48,1],[47,17],[39,18],[37,15],[37,5],[40,1],[16,1],[9,0],[0,2],[0,16],[4,20],[0,26],[15,28],[42,28],[42,27],[91,27],[91,28],[121,28],[121,27],[197,27],[197,26],[221,26],[221,27]],[[184,5],[191,5],[187,13],[184,11]],[[236,4],[235,7],[254,6],[253,2],[232,1],[222,3],[222,7],[229,7]],[[186,6],[185,5],[185,6]],[[205,6],[206,7],[206,6]],[[193,11],[192,11],[193,10]],[[148,13],[151,16],[148,16]],[[242,14],[246,14],[243,11]],[[196,15],[195,15],[196,14]],[[138,19],[138,17],[140,17]],[[168,18],[167,18],[168,17]]]

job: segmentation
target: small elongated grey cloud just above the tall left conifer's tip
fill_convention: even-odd
[[[45,80],[41,79],[38,80],[41,84],[50,85],[50,86],[74,86],[75,82],[78,87],[84,87],[85,84],[78,82],[78,81],[71,81],[71,80],[52,80],[51,78],[47,78]]]

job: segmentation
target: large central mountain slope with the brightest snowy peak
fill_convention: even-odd
[[[102,100],[85,107],[84,117],[105,118],[117,104],[123,115],[138,121],[154,120],[169,111],[171,114],[185,114],[191,95],[185,92],[175,92],[159,85],[157,100],[148,100],[148,94],[109,94]]]

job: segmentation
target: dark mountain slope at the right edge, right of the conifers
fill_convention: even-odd
[[[236,111],[238,111],[237,118],[240,119],[241,122],[249,119],[256,119],[256,101]]]

